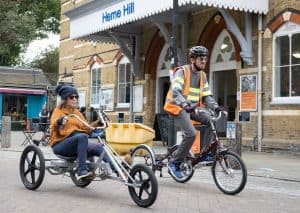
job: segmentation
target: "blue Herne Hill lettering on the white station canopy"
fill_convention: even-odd
[[[134,2],[124,4],[121,9],[113,9],[112,11],[104,11],[102,13],[102,23],[119,19],[134,13]]]

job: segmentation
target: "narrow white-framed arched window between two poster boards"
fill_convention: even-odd
[[[130,103],[131,66],[126,59],[121,60],[118,69],[118,103],[128,105]]]

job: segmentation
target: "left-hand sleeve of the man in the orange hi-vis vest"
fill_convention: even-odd
[[[173,99],[175,101],[175,104],[178,106],[183,106],[185,103],[187,103],[187,100],[183,96],[184,71],[182,68],[178,69],[174,73],[174,78],[171,83]]]

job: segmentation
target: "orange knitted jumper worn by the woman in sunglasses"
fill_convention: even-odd
[[[74,131],[76,132],[84,132],[87,134],[90,134],[91,130],[88,129],[84,124],[82,124],[80,121],[78,121],[76,118],[71,117],[65,124],[64,128],[60,128],[59,125],[57,125],[57,120],[62,117],[69,114],[76,114],[78,115],[82,120],[86,121],[86,119],[83,117],[83,115],[80,113],[77,109],[70,109],[66,107],[57,107],[54,109],[52,116],[51,116],[51,132],[50,132],[50,146],[52,147],[54,144],[59,143],[60,141],[67,138],[69,135],[71,135]]]

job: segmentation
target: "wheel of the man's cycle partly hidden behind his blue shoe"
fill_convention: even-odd
[[[171,158],[170,159],[174,159],[174,157],[175,157],[175,155],[176,155],[176,153],[177,153],[177,149],[178,149],[178,147],[179,146],[174,146],[174,147],[172,147],[171,148],[171,152],[172,152],[172,154],[171,154]],[[169,159],[169,160],[170,160]],[[179,166],[179,168],[180,168],[180,171],[182,172],[182,174],[183,174],[183,177],[182,178],[178,178],[178,177],[176,177],[176,176],[174,176],[173,174],[172,174],[172,172],[170,172],[169,171],[169,174],[171,175],[171,177],[176,181],[176,182],[178,182],[178,183],[186,183],[186,182],[188,182],[192,177],[193,177],[193,175],[194,175],[194,172],[195,172],[195,170],[193,169],[193,167],[192,167],[192,164],[191,164],[191,161],[185,161],[185,162],[183,162],[180,166]]]

